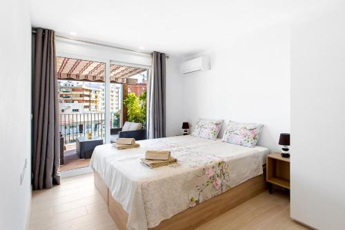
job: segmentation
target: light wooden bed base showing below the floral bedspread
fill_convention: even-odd
[[[246,202],[267,189],[266,186],[266,166],[263,166],[264,174],[235,186],[220,195],[215,196],[205,202],[198,204],[196,207],[188,208],[181,213],[177,213],[168,220],[162,221],[157,227],[150,230],[168,230],[168,229],[195,229],[218,215],[233,209],[239,204]],[[126,230],[128,213],[124,208],[112,198],[108,186],[103,182],[99,173],[95,172],[95,186],[102,198],[108,205],[108,211],[112,220],[119,230]]]

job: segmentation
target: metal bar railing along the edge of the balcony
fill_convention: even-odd
[[[74,143],[77,137],[88,137],[88,133],[104,139],[105,124],[104,112],[60,114],[60,133],[65,144]],[[110,128],[119,128],[119,125],[119,117],[110,113]]]

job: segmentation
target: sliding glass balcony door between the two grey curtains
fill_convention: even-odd
[[[106,138],[112,140],[112,136],[106,137],[107,131],[114,133],[126,121],[146,125],[147,76],[146,68],[119,64],[106,68],[99,61],[57,57],[59,128],[64,149],[60,171],[88,166],[90,159],[77,155],[77,141],[91,135],[105,143]],[[133,116],[134,108],[124,106],[126,97],[135,100],[140,113]]]

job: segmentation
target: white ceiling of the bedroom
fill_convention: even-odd
[[[33,27],[134,50],[190,55],[336,0],[30,0]],[[77,34],[77,35],[76,35]]]

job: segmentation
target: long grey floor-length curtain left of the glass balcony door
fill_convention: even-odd
[[[32,188],[60,184],[55,32],[32,33]]]

